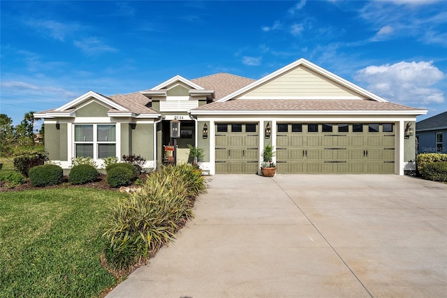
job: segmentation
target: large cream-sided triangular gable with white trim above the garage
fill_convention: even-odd
[[[368,99],[388,102],[328,70],[299,59],[292,64],[228,94],[234,99]]]

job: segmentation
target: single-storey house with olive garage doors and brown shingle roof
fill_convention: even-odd
[[[177,119],[177,161],[188,160],[187,144],[203,148],[209,174],[258,172],[265,144],[278,173],[404,174],[415,167],[409,132],[426,113],[299,59],[260,80],[177,75],[133,94],[89,91],[34,116],[45,119],[45,151],[67,170],[73,157],[124,154],[154,168],[167,161]]]

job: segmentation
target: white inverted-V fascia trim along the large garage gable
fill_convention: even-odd
[[[310,61],[307,61],[304,58],[298,59],[297,61],[288,64],[284,66],[283,68],[279,68],[279,70],[274,71],[273,73],[270,73],[270,75],[266,75],[265,77],[262,77],[261,79],[247,85],[246,87],[243,87],[242,89],[239,89],[232,94],[228,94],[228,96],[225,96],[219,100],[216,100],[216,102],[224,102],[227,100],[230,100],[232,98],[235,98],[236,96],[239,96],[240,94],[243,94],[246,91],[249,91],[250,89],[254,89],[255,87],[258,87],[259,85],[268,82],[268,80],[271,80],[274,77],[277,77],[283,73],[286,73],[288,70],[291,70],[297,66],[306,66],[307,68],[314,70],[316,73],[321,73],[321,75],[324,75],[325,77],[330,78],[330,80],[334,80],[335,82],[341,84],[344,87],[347,87],[353,91],[356,91],[357,93],[361,94],[362,96],[365,96],[367,98],[374,99],[376,101],[381,101],[383,103],[388,103],[388,100],[381,98],[380,96],[377,96],[376,94],[373,94],[362,87],[357,86],[356,84],[353,84],[349,82],[348,80],[344,80],[344,78],[339,77],[338,75],[335,75],[334,73],[331,73],[328,70],[325,70],[324,68],[321,68],[320,66],[317,66],[316,64],[313,64]]]

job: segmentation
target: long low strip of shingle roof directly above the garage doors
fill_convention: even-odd
[[[297,100],[228,100],[210,103],[195,110],[209,111],[419,111],[414,107],[374,100],[297,99]]]

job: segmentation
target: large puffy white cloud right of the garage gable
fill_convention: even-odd
[[[432,61],[405,62],[367,66],[355,79],[367,83],[367,89],[400,103],[444,103],[444,93],[432,85],[444,80],[446,75]]]

